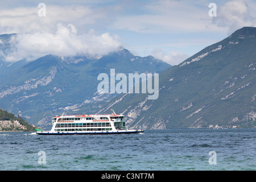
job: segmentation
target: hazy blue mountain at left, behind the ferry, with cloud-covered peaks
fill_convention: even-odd
[[[11,50],[8,39],[11,35],[0,35],[0,50],[5,54]],[[1,58],[1,57],[0,57]],[[88,104],[87,112],[98,107],[94,102],[105,102],[117,94],[97,92],[100,73],[159,73],[171,65],[152,56],[133,55],[125,48],[101,57],[46,55],[34,61],[20,60],[6,63],[0,59],[0,107],[20,114],[28,123],[44,127],[51,125],[53,115],[63,111],[76,111]]]

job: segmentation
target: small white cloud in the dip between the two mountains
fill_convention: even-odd
[[[177,65],[180,64],[182,61],[187,59],[189,56],[183,52],[179,51],[170,51],[170,54],[164,53],[160,49],[155,49],[152,53],[152,56],[156,57],[157,59],[163,60],[168,64]]]

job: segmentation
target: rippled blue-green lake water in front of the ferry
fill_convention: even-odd
[[[58,136],[0,133],[0,170],[255,170],[255,139],[256,129]],[[216,164],[209,163],[213,158]]]

